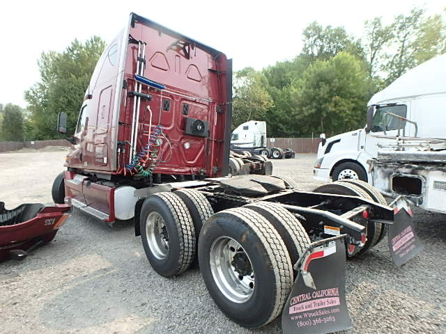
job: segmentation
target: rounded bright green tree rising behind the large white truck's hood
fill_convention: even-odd
[[[291,89],[296,131],[331,136],[362,127],[373,92],[367,65],[357,57],[340,52],[329,61],[316,61]]]

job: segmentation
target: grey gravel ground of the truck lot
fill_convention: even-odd
[[[0,199],[8,207],[51,202],[65,154],[0,154]],[[311,190],[319,184],[314,159],[274,161],[274,172]],[[402,268],[384,241],[347,262],[348,333],[446,332],[445,218],[415,210],[415,230],[424,252]],[[131,224],[109,228],[79,212],[24,262],[0,264],[0,284],[1,333],[281,333],[279,320],[256,331],[234,324],[210,299],[199,269],[162,278]]]

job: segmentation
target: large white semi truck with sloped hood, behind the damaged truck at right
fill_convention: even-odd
[[[393,113],[417,122],[417,136],[446,138],[446,54],[432,58],[395,80],[369,101],[369,127],[331,138],[319,144],[314,179],[359,179],[372,182],[369,161],[377,157],[379,136],[415,136],[415,127]]]

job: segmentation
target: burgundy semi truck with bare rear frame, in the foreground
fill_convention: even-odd
[[[397,219],[356,180],[301,191],[262,157],[240,159],[245,175],[231,175],[231,77],[222,52],[132,13],[95,67],[54,202],[108,223],[133,220],[157,273],[198,263],[215,303],[242,326],[284,310],[286,333],[348,328],[346,256],[410,216]],[[58,131],[67,131],[64,113]],[[323,308],[337,317],[302,323],[306,290],[305,303],[332,294]]]

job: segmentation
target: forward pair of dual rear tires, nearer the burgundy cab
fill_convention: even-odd
[[[213,215],[210,203],[193,189],[155,193],[141,207],[140,231],[152,268],[164,277],[197,264],[197,241],[203,223]]]

